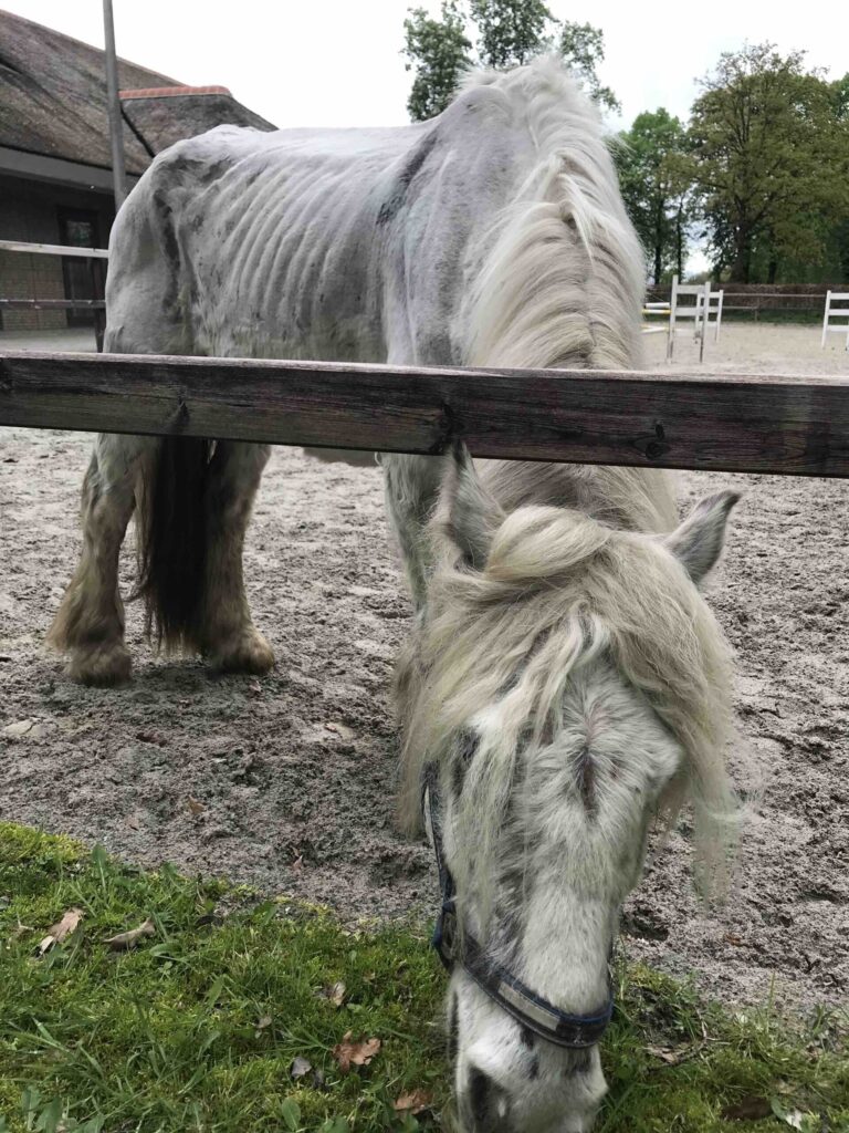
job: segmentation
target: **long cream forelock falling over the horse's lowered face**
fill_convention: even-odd
[[[657,536],[564,508],[508,514],[480,571],[457,562],[439,510],[430,536],[438,562],[429,616],[415,644],[418,679],[408,674],[401,701],[406,823],[418,821],[423,765],[447,759],[457,732],[500,701],[498,736],[472,757],[458,802],[465,844],[486,854],[498,837],[521,739],[544,746],[566,685],[607,659],[684,749],[660,809],[671,823],[689,795],[697,878],[703,889],[720,891],[737,818],[724,767],[731,662],[684,566]]]

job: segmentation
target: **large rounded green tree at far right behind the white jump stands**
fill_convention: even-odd
[[[804,52],[783,58],[769,43],[722,54],[702,86],[691,173],[717,267],[749,282],[775,279],[781,257],[821,257],[849,199],[839,93]]]

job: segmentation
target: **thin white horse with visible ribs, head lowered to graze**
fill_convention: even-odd
[[[633,367],[643,257],[589,102],[542,60],[475,75],[402,129],[221,127],[157,157],[115,222],[106,349]],[[161,639],[273,664],[241,551],[267,449],[101,436],[53,628],[70,673],[129,675],[118,553],[136,503]],[[695,583],[730,494],[676,528],[664,474],[385,457],[417,610],[400,667],[406,817],[428,819],[455,939],[462,1127],[588,1130],[608,959],[645,830],[691,789],[731,811],[728,661]],[[719,832],[719,833],[718,833]],[[710,854],[709,861],[710,861]],[[714,863],[721,860],[714,853]]]

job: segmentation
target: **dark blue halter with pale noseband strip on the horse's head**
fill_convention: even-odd
[[[598,1011],[588,1015],[568,1015],[525,987],[506,968],[496,963],[470,932],[464,931],[461,939],[457,932],[454,878],[445,863],[443,851],[439,772],[435,764],[429,764],[424,768],[422,815],[436,854],[441,891],[441,908],[434,929],[432,944],[445,968],[451,971],[454,964],[460,964],[501,1011],[506,1011],[517,1023],[549,1042],[571,1049],[595,1046],[614,1013],[612,991],[608,993],[607,1003]]]

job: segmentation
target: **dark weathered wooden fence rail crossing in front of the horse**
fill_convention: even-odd
[[[849,476],[849,376],[8,352],[0,425]]]

